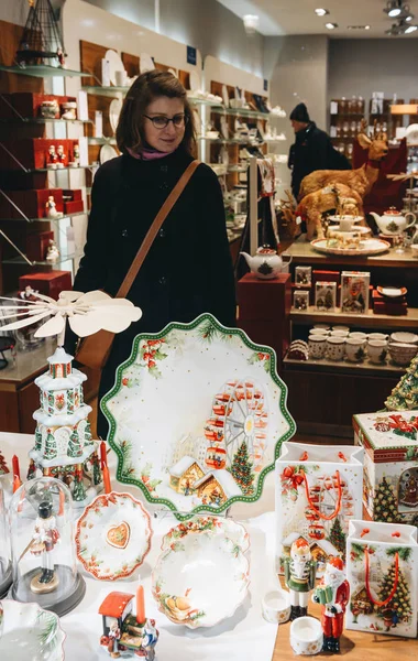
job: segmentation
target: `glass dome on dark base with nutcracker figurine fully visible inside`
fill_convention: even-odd
[[[24,483],[10,501],[9,518],[13,577],[9,596],[65,615],[86,592],[76,568],[68,487],[53,477]]]

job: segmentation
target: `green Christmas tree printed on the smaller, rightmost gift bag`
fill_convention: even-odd
[[[399,554],[399,559],[407,562],[410,557],[410,549],[389,549],[387,555],[394,556],[396,553]],[[391,595],[395,585],[395,561],[391,564],[388,571],[383,575],[383,579],[378,590],[378,600],[385,602]],[[402,621],[409,621],[413,616],[413,609],[410,606],[410,590],[408,583],[405,579],[404,573],[399,568],[397,587],[391,602],[380,608],[378,615],[384,617],[384,613],[391,609],[396,613],[397,617]]]

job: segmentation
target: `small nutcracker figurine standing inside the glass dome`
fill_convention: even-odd
[[[42,555],[42,572],[35,574],[31,581],[31,590],[35,594],[53,592],[58,585],[58,577],[54,572],[54,562],[51,553],[59,541],[59,532],[53,516],[53,506],[48,500],[40,502],[35,532],[29,546],[33,555]]]

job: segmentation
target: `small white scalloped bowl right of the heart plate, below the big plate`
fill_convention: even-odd
[[[188,534],[160,555],[152,574],[153,597],[172,622],[212,627],[244,600],[249,568],[229,538]]]

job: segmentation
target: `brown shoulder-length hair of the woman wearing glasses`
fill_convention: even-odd
[[[122,153],[128,153],[128,149],[140,151],[144,145],[144,113],[162,96],[184,102],[186,127],[180,147],[191,155],[196,153],[194,112],[186,89],[176,76],[156,69],[141,74],[127,94],[117,128],[117,143]]]

